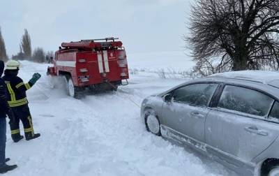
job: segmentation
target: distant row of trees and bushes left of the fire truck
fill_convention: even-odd
[[[32,52],[31,37],[27,29],[24,29],[24,34],[22,35],[22,39],[20,41],[20,51],[17,52],[17,54],[12,55],[10,59],[29,60],[29,61],[39,62],[39,63],[43,63],[43,62],[50,63],[53,57],[54,57],[54,52],[52,51],[45,52],[42,47],[36,47]],[[8,61],[8,59],[9,57],[6,52],[6,45],[0,29],[0,60]]]

